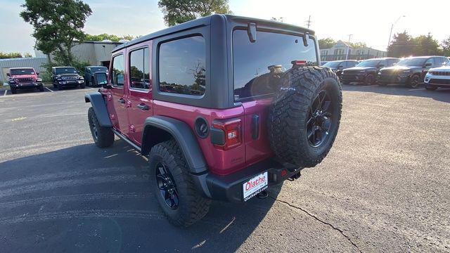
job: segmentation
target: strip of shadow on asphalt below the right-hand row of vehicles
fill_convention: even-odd
[[[396,96],[418,96],[450,103],[450,89],[443,88],[439,88],[436,91],[427,91],[423,86],[419,86],[416,89],[411,89],[404,85],[397,84],[389,84],[387,86],[346,84],[342,85],[342,91],[364,91]]]

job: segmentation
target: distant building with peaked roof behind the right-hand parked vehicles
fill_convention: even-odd
[[[373,48],[353,48],[344,41],[338,41],[330,48],[321,48],[321,60],[345,60],[348,52],[348,60],[366,60],[371,58],[386,57],[386,51]]]

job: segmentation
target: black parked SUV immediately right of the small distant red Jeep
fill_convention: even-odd
[[[75,87],[84,89],[84,77],[80,76],[75,67],[51,67],[51,81],[53,87],[59,90],[65,87]]]

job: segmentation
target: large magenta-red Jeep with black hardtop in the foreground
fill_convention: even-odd
[[[134,39],[86,93],[92,136],[148,155],[162,210],[189,226],[210,200],[247,201],[327,155],[342,93],[318,52],[311,30],[232,15]]]

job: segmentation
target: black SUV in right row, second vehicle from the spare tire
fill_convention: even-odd
[[[391,67],[399,62],[399,58],[377,58],[363,60],[355,67],[350,67],[342,70],[341,82],[342,84],[349,84],[351,82],[363,83],[366,85],[375,84],[378,71],[382,67]]]

